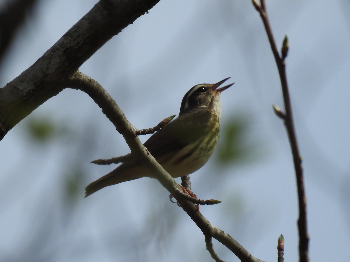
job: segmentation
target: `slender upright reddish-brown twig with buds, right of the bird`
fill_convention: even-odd
[[[272,29],[269,24],[268,16],[266,13],[265,1],[261,0],[260,4],[257,2],[257,0],[252,0],[252,1],[255,9],[257,9],[257,11],[261,16],[262,22],[264,23],[268,41],[270,42],[271,50],[275,58],[279,76],[280,76],[282,93],[283,93],[283,102],[285,106],[285,114],[283,114],[283,118],[284,118],[284,124],[286,126],[286,130],[288,134],[290,147],[292,149],[294,169],[295,169],[295,175],[296,175],[296,184],[297,184],[297,191],[298,191],[299,259],[300,259],[300,262],[308,262],[309,261],[309,255],[308,255],[309,235],[307,231],[306,195],[305,195],[305,188],[304,188],[303,167],[301,163],[301,157],[299,153],[299,148],[298,148],[296,133],[294,128],[293,112],[292,112],[292,105],[290,103],[290,96],[288,91],[288,82],[287,82],[287,75],[286,75],[286,64],[285,64],[285,58],[287,56],[288,49],[289,49],[288,38],[285,37],[285,39],[283,40],[282,49],[281,49],[282,55],[280,57],[273,34],[272,34]],[[276,110],[275,110],[275,113],[276,113]]]

